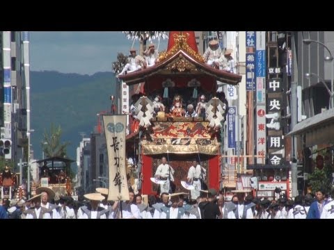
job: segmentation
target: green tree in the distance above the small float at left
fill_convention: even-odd
[[[51,124],[49,133],[45,129],[43,140],[40,142],[45,158],[50,157],[66,157],[66,147],[70,142],[61,143],[61,126],[58,127]]]

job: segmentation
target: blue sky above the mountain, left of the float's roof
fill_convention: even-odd
[[[122,31],[31,31],[30,65],[33,71],[94,74],[111,72],[118,52],[129,54],[132,40]],[[154,41],[157,44],[157,41]],[[134,42],[139,49],[139,42]],[[166,49],[160,42],[159,51]]]

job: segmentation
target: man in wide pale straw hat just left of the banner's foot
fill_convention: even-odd
[[[99,206],[104,196],[100,193],[85,194],[84,197],[90,200],[88,206],[81,206],[78,210],[78,219],[106,219],[106,209]]]

